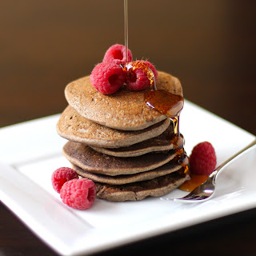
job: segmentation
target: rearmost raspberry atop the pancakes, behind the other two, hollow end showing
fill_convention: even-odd
[[[131,51],[128,49],[128,59],[127,62],[132,62],[133,55]],[[106,50],[106,54],[103,58],[104,63],[115,63],[115,64],[122,64],[126,63],[126,46],[122,45],[114,45],[110,46],[108,50]]]

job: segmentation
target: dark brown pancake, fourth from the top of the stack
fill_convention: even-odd
[[[110,176],[120,174],[137,174],[153,170],[170,162],[175,157],[174,150],[166,154],[143,154],[139,158],[116,158],[97,151],[78,142],[67,142],[63,147],[63,154],[75,166],[95,174]]]

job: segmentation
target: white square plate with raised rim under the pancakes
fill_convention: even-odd
[[[55,131],[58,118],[54,115],[0,129],[0,196],[59,254],[92,254],[256,206],[256,152],[252,150],[218,176],[217,192],[206,202],[164,200],[186,194],[174,190],[141,202],[96,199],[89,210],[71,209],[62,204],[50,182],[54,170],[70,166],[62,156],[66,140]],[[254,135],[188,101],[180,129],[187,154],[198,142],[209,141],[218,164],[254,140]]]

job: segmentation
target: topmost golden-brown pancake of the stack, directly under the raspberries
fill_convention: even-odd
[[[182,96],[178,78],[158,71],[158,90]],[[65,96],[70,106],[93,122],[118,130],[142,130],[166,119],[144,102],[144,91],[130,91],[122,86],[114,94],[104,95],[90,83],[90,76],[79,78],[66,86]]]

